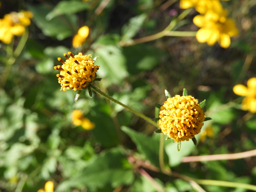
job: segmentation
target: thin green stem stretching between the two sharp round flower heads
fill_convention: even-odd
[[[157,124],[156,122],[154,122],[151,118],[145,116],[144,114],[142,114],[142,113],[140,113],[140,112],[138,112],[138,111],[136,111],[136,110],[134,110],[134,109],[128,107],[127,105],[125,105],[125,104],[119,102],[118,100],[112,98],[110,95],[106,94],[105,92],[102,92],[102,90],[100,90],[100,89],[97,88],[96,86],[90,84],[90,87],[91,87],[95,92],[97,92],[98,94],[104,96],[104,97],[107,98],[108,100],[110,100],[110,101],[112,101],[112,102],[114,102],[114,103],[117,103],[117,104],[123,106],[124,108],[126,108],[127,110],[129,110],[130,112],[132,112],[133,114],[139,116],[140,118],[142,118],[142,119],[144,119],[146,122],[148,122],[148,123],[150,123],[150,124],[156,126],[157,128],[159,127],[158,124]]]

